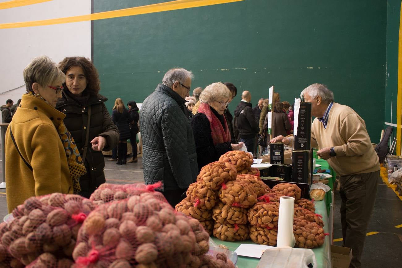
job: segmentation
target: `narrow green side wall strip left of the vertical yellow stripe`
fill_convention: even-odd
[[[398,96],[398,38],[401,0],[387,1],[387,76],[385,90],[385,122],[396,124]],[[384,127],[388,127],[385,125]],[[396,128],[394,127],[394,133]]]

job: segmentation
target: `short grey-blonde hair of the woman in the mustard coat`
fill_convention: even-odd
[[[24,81],[27,87],[27,93],[32,91],[33,83],[38,83],[42,87],[49,86],[57,79],[66,82],[66,75],[57,68],[56,63],[51,61],[47,56],[40,56],[33,59],[27,67],[25,67]]]

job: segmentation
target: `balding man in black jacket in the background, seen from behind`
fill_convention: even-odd
[[[255,121],[254,111],[252,109],[250,92],[243,91],[242,100],[234,110],[234,125],[239,131],[240,141],[244,142],[247,151],[254,154],[255,137],[260,131]]]

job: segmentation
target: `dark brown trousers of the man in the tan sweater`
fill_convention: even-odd
[[[351,248],[353,254],[349,268],[361,267],[360,259],[377,195],[378,178],[379,171],[339,178],[343,245]]]

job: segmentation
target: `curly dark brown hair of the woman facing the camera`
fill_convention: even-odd
[[[97,95],[100,90],[99,74],[92,61],[86,57],[65,57],[59,62],[59,69],[67,73],[72,67],[79,66],[88,82],[86,90],[89,94]]]

